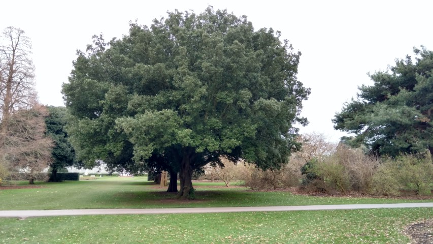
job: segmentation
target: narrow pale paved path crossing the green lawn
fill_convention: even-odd
[[[60,209],[60,210],[5,210],[0,217],[71,216],[71,215],[146,215],[146,214],[196,214],[205,212],[297,211],[367,208],[433,207],[433,202],[397,204],[348,204],[274,207],[186,207],[186,208],[115,208],[115,209]]]

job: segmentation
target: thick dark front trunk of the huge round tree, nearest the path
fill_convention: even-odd
[[[192,188],[193,169],[191,168],[190,162],[191,156],[184,154],[179,172],[181,189],[178,193],[178,198],[180,199],[194,199],[194,195],[191,195],[194,190]]]

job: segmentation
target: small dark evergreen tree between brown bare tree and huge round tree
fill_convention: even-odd
[[[52,172],[50,180],[57,181],[57,172],[65,167],[77,164],[77,161],[75,158],[74,147],[68,141],[68,133],[65,131],[66,108],[54,106],[49,106],[47,108],[49,115],[45,118],[45,123],[47,125],[46,133],[54,142],[54,147],[51,153],[52,161],[50,162],[50,169]]]

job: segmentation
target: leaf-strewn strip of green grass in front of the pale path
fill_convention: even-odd
[[[409,243],[432,208],[2,219],[0,243]]]

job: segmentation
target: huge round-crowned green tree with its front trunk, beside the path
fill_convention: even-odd
[[[220,156],[263,169],[287,163],[299,148],[293,124],[307,124],[301,53],[246,16],[211,7],[168,15],[78,52],[62,90],[78,157],[130,169],[164,159],[185,198],[193,170]]]

